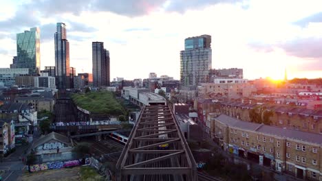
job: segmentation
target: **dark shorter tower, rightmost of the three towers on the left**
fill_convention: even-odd
[[[109,51],[103,42],[92,43],[93,86],[109,86]]]

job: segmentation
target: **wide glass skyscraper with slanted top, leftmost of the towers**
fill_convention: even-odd
[[[40,29],[30,28],[30,31],[17,34],[17,58],[11,67],[28,68],[30,74],[40,71]]]

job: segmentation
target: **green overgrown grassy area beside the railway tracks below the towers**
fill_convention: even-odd
[[[109,91],[73,94],[74,103],[92,114],[110,114],[118,116],[126,114],[125,108]]]

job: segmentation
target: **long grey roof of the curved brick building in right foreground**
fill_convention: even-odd
[[[321,111],[322,112],[322,111]],[[228,125],[229,127],[240,128],[243,130],[249,130],[258,133],[270,134],[272,136],[280,136],[283,138],[290,138],[298,141],[305,141],[308,143],[316,143],[322,145],[322,135],[314,134],[310,132],[301,132],[297,130],[290,130],[286,128],[277,128],[274,126],[250,123],[247,121],[240,121],[233,117],[229,117],[226,114],[221,114],[215,120]]]

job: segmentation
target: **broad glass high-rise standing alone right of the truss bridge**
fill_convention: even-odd
[[[184,50],[180,51],[181,86],[198,86],[209,81],[211,62],[211,36],[186,38]]]

